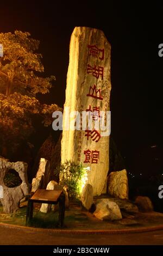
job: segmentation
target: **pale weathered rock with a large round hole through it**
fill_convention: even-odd
[[[18,209],[20,200],[29,194],[29,185],[27,179],[27,163],[11,163],[0,159],[0,185],[3,187],[3,199],[1,203],[5,214],[12,214]],[[22,180],[22,184],[16,187],[7,187],[4,185],[4,176],[8,170],[14,169]]]

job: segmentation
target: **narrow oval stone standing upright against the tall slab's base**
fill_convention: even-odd
[[[87,210],[89,210],[93,204],[93,187],[91,184],[85,184],[82,190],[81,201]]]

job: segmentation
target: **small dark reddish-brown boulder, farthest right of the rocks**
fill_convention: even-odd
[[[138,196],[135,198],[134,203],[137,205],[140,211],[143,211],[143,212],[153,211],[153,204],[151,202],[151,199],[149,199],[149,197]]]

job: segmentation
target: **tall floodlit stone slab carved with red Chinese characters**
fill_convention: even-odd
[[[83,130],[71,130],[70,126],[66,127],[65,120],[68,111],[79,111],[80,114],[85,111],[92,116],[93,121],[101,120],[99,111],[105,111],[106,117],[111,90],[110,50],[110,44],[102,31],[87,27],[74,28],[67,72],[61,162],[72,160],[90,167],[86,183],[92,185],[94,196],[106,192],[109,133],[102,136],[101,128],[93,132],[88,126]],[[71,116],[69,124],[74,122],[72,118]]]

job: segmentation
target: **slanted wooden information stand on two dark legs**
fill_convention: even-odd
[[[30,224],[33,218],[33,204],[58,204],[59,203],[59,220],[58,227],[64,226],[65,218],[65,194],[62,190],[36,190],[36,192],[28,198],[26,225]]]

